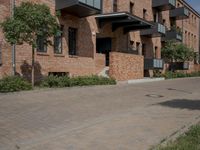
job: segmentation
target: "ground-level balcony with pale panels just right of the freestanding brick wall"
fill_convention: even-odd
[[[164,61],[162,59],[144,59],[145,70],[163,69],[163,67]]]

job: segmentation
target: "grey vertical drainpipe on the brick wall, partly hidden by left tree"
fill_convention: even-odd
[[[14,16],[14,10],[15,10],[15,0],[11,0],[11,16]],[[16,60],[15,60],[15,49],[16,49],[16,45],[12,44],[12,75],[14,76],[16,73]]]

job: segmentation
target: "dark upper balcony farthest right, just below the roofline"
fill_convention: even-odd
[[[185,7],[180,7],[170,10],[169,15],[171,18],[176,18],[177,20],[187,19],[189,18],[189,10]]]

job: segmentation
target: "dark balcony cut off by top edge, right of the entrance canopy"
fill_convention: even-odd
[[[160,11],[174,9],[176,0],[152,0],[152,7]]]

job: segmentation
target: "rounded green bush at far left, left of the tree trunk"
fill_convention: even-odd
[[[0,92],[31,90],[31,84],[19,76],[8,76],[0,80]]]

